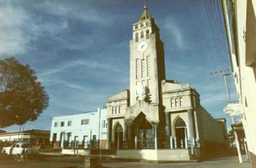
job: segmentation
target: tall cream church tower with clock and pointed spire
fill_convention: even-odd
[[[139,100],[162,104],[161,81],[165,79],[164,44],[146,6],[132,25],[130,40],[130,103]]]

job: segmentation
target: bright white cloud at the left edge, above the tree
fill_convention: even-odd
[[[53,38],[61,30],[67,29],[67,21],[36,24],[31,13],[20,5],[7,1],[0,7],[0,55],[25,54],[30,49],[30,41],[45,32]],[[19,7],[17,7],[19,6]]]

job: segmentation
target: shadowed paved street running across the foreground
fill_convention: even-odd
[[[243,156],[246,161],[246,156]],[[116,162],[103,160],[104,167],[123,167],[123,168],[182,168],[182,167],[232,167],[232,168],[249,168],[249,162],[238,163],[236,156],[226,156],[221,158],[212,158],[204,162],[189,162],[189,163],[145,163],[145,162]],[[62,157],[47,157],[45,161],[31,161],[31,162],[15,162],[15,161],[1,161],[0,168],[18,167],[18,168],[82,168],[83,158],[80,156],[62,156]]]

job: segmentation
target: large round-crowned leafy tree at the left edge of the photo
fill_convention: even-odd
[[[0,60],[0,128],[34,121],[49,106],[35,71],[14,57]]]

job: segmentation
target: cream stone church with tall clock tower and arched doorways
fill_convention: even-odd
[[[144,7],[132,24],[130,88],[107,98],[108,148],[204,148],[227,145],[225,119],[201,106],[189,83],[165,77],[164,43]]]

